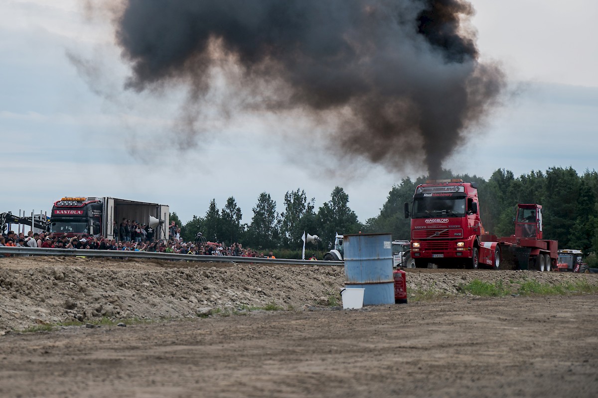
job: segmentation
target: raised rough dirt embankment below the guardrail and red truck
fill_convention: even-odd
[[[533,271],[410,270],[408,291],[462,294],[459,286],[479,279],[541,283],[598,276]],[[123,261],[90,258],[0,259],[0,332],[44,323],[100,317],[176,318],[199,308],[236,311],[275,305],[301,310],[340,303],[343,267]]]

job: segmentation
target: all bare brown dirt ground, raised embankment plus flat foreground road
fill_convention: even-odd
[[[331,307],[343,280],[342,267],[322,264],[0,258],[0,397],[598,394],[597,295],[459,289],[472,280],[596,285],[597,274],[414,270],[408,291],[437,301],[364,310]],[[242,310],[267,304],[286,310]],[[197,317],[202,307],[215,314]],[[170,320],[18,332],[131,317]]]

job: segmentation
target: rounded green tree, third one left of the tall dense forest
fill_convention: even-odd
[[[262,192],[252,210],[254,215],[251,218],[246,236],[248,245],[260,249],[276,247],[279,239],[276,227],[278,220],[276,202],[272,200],[269,193]]]

